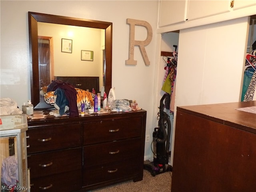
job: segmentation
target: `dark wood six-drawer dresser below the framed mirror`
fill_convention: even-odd
[[[143,178],[146,111],[28,120],[31,191],[87,191]]]

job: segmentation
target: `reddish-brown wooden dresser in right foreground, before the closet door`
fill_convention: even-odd
[[[256,101],[177,107],[172,192],[255,192]]]

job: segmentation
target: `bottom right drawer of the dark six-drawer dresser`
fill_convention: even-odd
[[[139,165],[138,158],[130,158],[116,164],[110,163],[84,168],[83,186],[135,176],[140,172]]]

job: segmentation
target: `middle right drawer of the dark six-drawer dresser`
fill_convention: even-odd
[[[84,166],[106,164],[139,157],[140,138],[84,146]]]

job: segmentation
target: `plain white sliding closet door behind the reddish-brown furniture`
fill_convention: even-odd
[[[175,108],[240,101],[247,36],[247,17],[180,30]]]

